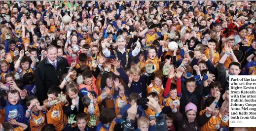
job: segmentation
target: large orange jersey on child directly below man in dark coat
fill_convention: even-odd
[[[45,100],[43,104],[46,105],[48,102],[48,100]],[[46,111],[47,124],[53,124],[57,131],[62,131],[67,125],[67,116],[63,113],[62,109],[63,105],[63,103],[52,105]]]

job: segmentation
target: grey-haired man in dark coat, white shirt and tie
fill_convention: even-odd
[[[47,57],[38,64],[35,71],[36,96],[40,102],[47,98],[47,91],[51,86],[60,84],[61,76],[68,72],[67,67],[67,60],[57,56],[57,48],[49,46]]]

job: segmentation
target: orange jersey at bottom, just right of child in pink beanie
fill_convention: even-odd
[[[200,116],[203,115],[205,110],[200,111]],[[201,127],[201,131],[218,131],[220,128],[221,114],[216,117],[212,116],[211,119]]]

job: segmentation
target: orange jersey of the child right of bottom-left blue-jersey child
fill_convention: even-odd
[[[38,111],[38,116],[36,116],[34,113],[31,114],[29,119],[31,131],[40,131],[41,128],[46,124],[45,113],[45,111]]]

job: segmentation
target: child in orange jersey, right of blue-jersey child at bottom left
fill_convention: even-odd
[[[35,96],[29,96],[26,105],[28,107],[26,118],[29,120],[30,130],[40,131],[41,128],[46,125],[46,106],[40,106],[40,103]]]

